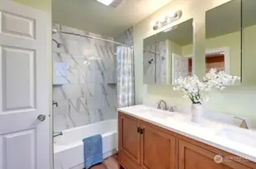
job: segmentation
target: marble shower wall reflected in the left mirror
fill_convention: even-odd
[[[143,78],[145,84],[166,84],[165,41],[144,47]]]

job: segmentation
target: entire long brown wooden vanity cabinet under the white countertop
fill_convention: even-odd
[[[222,155],[224,161],[214,161]],[[119,165],[125,169],[256,169],[248,160],[235,157],[149,122],[119,113]]]

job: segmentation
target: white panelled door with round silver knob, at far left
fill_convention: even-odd
[[[50,168],[47,29],[44,12],[0,0],[0,169]]]

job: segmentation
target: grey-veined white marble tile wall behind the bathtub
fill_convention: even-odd
[[[107,38],[67,26],[54,26],[64,32]],[[53,62],[65,62],[69,66],[67,83],[53,87],[53,98],[58,102],[58,107],[54,107],[54,131],[116,118],[114,45],[60,33],[53,38],[63,44],[57,48],[53,43]]]

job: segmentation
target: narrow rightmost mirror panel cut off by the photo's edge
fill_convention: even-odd
[[[256,1],[242,1],[242,84],[256,84]]]

